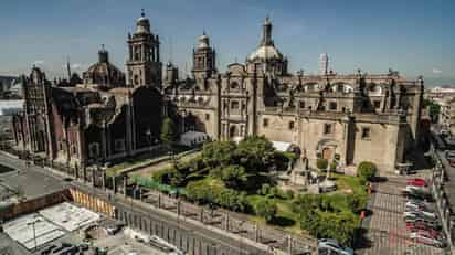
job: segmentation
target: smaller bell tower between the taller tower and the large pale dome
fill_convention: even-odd
[[[216,73],[216,54],[210,46],[209,36],[205,32],[199,38],[198,47],[193,50],[193,76],[195,79],[209,78]]]

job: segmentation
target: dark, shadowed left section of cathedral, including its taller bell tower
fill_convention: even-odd
[[[100,49],[83,83],[51,84],[33,67],[23,76],[24,108],[13,117],[17,149],[84,169],[149,151],[159,141],[166,107],[160,91],[159,39],[147,18],[128,34],[126,75]]]

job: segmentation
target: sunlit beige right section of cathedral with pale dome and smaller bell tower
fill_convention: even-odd
[[[245,63],[220,73],[215,56],[203,34],[193,50],[191,78],[178,79],[172,64],[166,66],[165,95],[178,108],[182,132],[230,140],[265,136],[296,146],[313,167],[325,158],[352,167],[372,161],[381,171],[406,162],[416,146],[422,78],[406,81],[393,71],[336,74],[326,54],[319,75],[289,74],[268,19]]]

